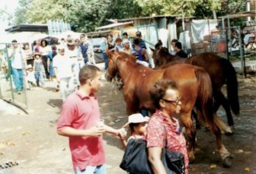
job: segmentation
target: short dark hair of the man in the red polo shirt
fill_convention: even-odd
[[[79,72],[79,82],[81,85],[85,84],[88,79],[95,78],[97,72],[100,72],[100,69],[97,66],[86,65]]]

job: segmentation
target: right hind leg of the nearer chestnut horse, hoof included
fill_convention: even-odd
[[[217,126],[220,121],[221,120],[218,118],[218,116],[216,116],[216,114],[214,114],[214,122],[212,122],[210,127],[212,128],[212,132],[214,133],[214,135],[216,137],[218,153],[220,153],[222,163],[223,163],[224,167],[230,167],[232,165],[232,157],[222,143],[220,128],[218,128],[218,126]]]

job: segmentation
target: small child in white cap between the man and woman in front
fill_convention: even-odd
[[[125,139],[121,139],[121,143],[124,148],[126,148],[127,143],[130,139],[145,139],[146,135],[146,126],[148,125],[148,116],[142,116],[142,114],[131,114],[128,117],[128,122],[124,125],[124,127],[130,127],[131,136],[128,138],[127,142]]]

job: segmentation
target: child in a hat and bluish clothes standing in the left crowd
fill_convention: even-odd
[[[42,76],[43,64],[42,64],[41,54],[36,52],[36,53],[34,53],[34,57],[35,57],[34,72],[35,72],[36,84],[37,84],[37,86],[41,85],[42,87],[44,87],[44,78]],[[40,82],[40,84],[39,84],[39,82]]]

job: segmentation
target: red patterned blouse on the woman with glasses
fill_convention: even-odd
[[[165,147],[163,139],[167,136],[167,149],[183,153],[185,161],[185,173],[188,173],[188,157],[185,138],[179,128],[179,121],[171,118],[173,124],[167,122],[167,116],[160,110],[157,110],[148,122],[146,130],[147,147]],[[164,127],[165,126],[165,127]]]

